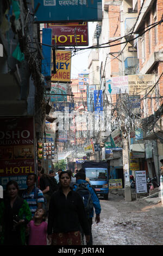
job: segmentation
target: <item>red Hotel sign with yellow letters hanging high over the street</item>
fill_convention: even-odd
[[[52,44],[60,46],[87,46],[88,26],[87,22],[71,23],[48,23],[48,28],[52,28]]]

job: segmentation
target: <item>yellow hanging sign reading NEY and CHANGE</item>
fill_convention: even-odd
[[[55,65],[52,82],[71,82],[71,51],[55,51]]]

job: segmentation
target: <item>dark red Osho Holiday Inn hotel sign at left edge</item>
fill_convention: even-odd
[[[26,177],[35,173],[33,117],[1,118],[0,185],[16,180],[20,189],[26,187]]]

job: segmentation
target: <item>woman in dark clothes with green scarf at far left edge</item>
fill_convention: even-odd
[[[18,184],[10,180],[7,184],[7,198],[0,204],[1,245],[26,245],[26,227],[32,214],[29,205],[18,196]]]

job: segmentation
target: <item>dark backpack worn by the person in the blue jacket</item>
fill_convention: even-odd
[[[91,192],[89,188],[87,188],[88,183],[75,184],[77,186],[76,192],[80,194],[80,197],[83,199],[83,203],[85,206],[85,211],[87,218],[89,218],[90,214],[93,211],[93,201],[91,198]]]

